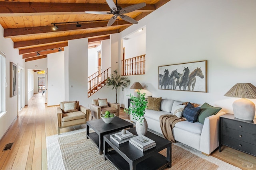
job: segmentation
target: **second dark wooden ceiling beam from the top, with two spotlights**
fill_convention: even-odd
[[[67,24],[67,25],[58,25],[58,29],[56,31],[52,30],[53,25],[51,26],[42,26],[42,27],[23,27],[23,28],[9,28],[4,29],[4,37],[12,38],[12,37],[21,37],[27,35],[38,35],[38,34],[48,34],[48,33],[60,33],[65,31],[76,31],[76,30],[86,30],[92,28],[106,27],[108,21],[104,22],[90,22],[90,23],[80,23],[82,27],[76,27],[76,24]],[[130,25],[129,22],[121,20],[115,21],[113,26],[116,27],[118,25]]]

